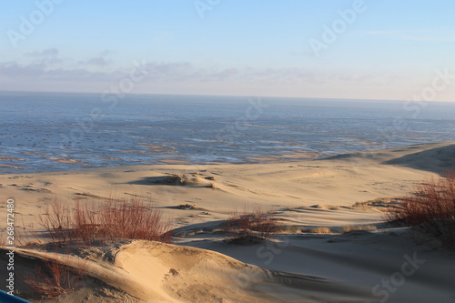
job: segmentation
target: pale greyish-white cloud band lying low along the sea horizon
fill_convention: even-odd
[[[0,63],[0,90],[102,93],[134,68],[131,63],[107,70],[103,68],[110,65],[106,55],[77,64],[75,59],[61,59],[53,49],[28,56],[34,58],[30,63]],[[147,78],[136,84],[134,93],[403,99],[418,90],[422,77],[429,76],[363,69],[227,68],[188,62],[146,62],[144,68]]]

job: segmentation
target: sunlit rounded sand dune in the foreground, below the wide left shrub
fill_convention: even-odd
[[[367,288],[359,288],[329,278],[251,266],[207,249],[132,241],[115,251],[113,262],[103,256],[81,261],[67,254],[17,249],[17,258],[29,268],[50,259],[71,268],[83,268],[89,278],[84,286],[110,286],[116,299],[146,302],[307,302],[336,298],[369,298]],[[23,262],[24,264],[25,262]],[[112,290],[111,290],[112,291]],[[66,296],[81,299],[84,292]],[[356,300],[360,301],[360,299]]]

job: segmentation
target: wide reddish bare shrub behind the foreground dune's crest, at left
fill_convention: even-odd
[[[140,198],[76,201],[74,210],[55,201],[40,217],[53,240],[69,239],[86,244],[106,239],[144,239],[169,243],[172,222],[163,220],[161,211]]]

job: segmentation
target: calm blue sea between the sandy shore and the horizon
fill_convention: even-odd
[[[254,163],[452,141],[455,104],[0,93],[0,173]]]

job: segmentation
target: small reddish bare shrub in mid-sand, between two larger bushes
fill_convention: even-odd
[[[234,243],[258,242],[273,237],[277,231],[277,222],[260,209],[232,215],[224,228],[224,234]]]

